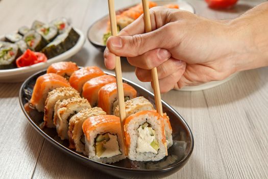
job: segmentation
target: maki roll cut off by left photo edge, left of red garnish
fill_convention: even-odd
[[[16,58],[19,55],[16,44],[0,41],[0,69],[16,68]]]

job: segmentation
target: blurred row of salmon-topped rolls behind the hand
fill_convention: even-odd
[[[156,2],[148,2],[149,8],[158,6]],[[179,9],[177,4],[166,4],[163,7],[170,9]],[[117,31],[124,29],[126,26],[130,25],[134,20],[136,20],[141,14],[143,14],[142,4],[133,6],[125,11],[118,12],[116,15]],[[111,26],[110,21],[107,23],[106,33],[103,35],[103,43],[106,44],[107,39],[111,36]]]

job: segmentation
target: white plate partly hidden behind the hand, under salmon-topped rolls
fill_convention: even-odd
[[[174,1],[155,1],[155,2],[157,3],[158,6],[163,6],[166,4],[178,4],[181,10],[194,13],[194,8],[185,1],[174,0]],[[124,11],[135,5],[120,9],[118,11],[120,12]],[[88,32],[87,32],[87,38],[90,41],[90,43],[101,51],[104,51],[106,47],[103,44],[103,34],[106,32],[108,20],[109,20],[109,16],[106,15],[105,17],[99,19],[93,25],[91,25],[91,27],[88,29]]]

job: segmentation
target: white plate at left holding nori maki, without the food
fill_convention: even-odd
[[[64,61],[70,58],[71,56],[75,55],[77,52],[79,52],[84,43],[85,43],[85,36],[84,34],[78,30],[75,29],[76,32],[80,35],[76,45],[69,49],[68,51],[54,57],[51,59],[48,59],[46,62],[41,62],[37,64],[33,64],[31,66],[25,66],[22,68],[16,68],[16,69],[8,69],[8,70],[0,70],[0,82],[19,82],[24,81],[26,78],[31,76],[32,74],[47,68],[47,66],[51,65],[52,63]],[[0,37],[2,39],[3,37]]]

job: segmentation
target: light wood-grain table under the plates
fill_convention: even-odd
[[[115,6],[137,2],[116,0]],[[234,18],[261,2],[239,1],[235,9],[213,11],[203,1],[189,1],[197,14],[213,19]],[[104,0],[2,0],[0,34],[58,16],[86,34],[107,12]],[[71,59],[105,68],[103,54],[88,41]],[[122,64],[124,77],[151,89],[137,80],[132,66]],[[19,107],[20,85],[0,83],[0,178],[111,178],[73,161],[33,129]],[[195,143],[186,166],[168,178],[268,178],[268,68],[239,73],[205,91],[171,91],[162,98],[185,118]]]

